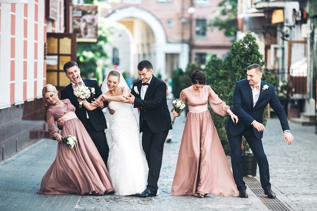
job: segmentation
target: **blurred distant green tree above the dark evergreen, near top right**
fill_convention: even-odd
[[[227,37],[236,36],[237,32],[237,0],[223,0],[218,4],[220,14],[210,21],[209,27],[224,30]]]

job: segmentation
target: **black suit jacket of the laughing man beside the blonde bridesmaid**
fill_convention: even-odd
[[[99,95],[101,95],[100,87],[98,86],[97,80],[89,80],[89,79],[83,79],[86,87],[92,87],[95,88],[94,95],[91,95],[90,98],[87,99],[88,102],[91,102],[94,100],[94,98],[98,98]],[[74,90],[72,88],[71,83],[65,87],[63,90],[61,90],[61,99],[68,98],[76,107],[75,113],[78,117],[78,119],[84,120],[87,119],[86,112],[88,113],[89,120],[94,126],[96,131],[102,131],[107,128],[106,125],[106,119],[104,117],[104,114],[100,108],[96,108],[95,110],[89,111],[84,106],[82,108],[79,107],[79,103],[77,101],[77,97],[74,95]],[[105,104],[106,106],[106,104]]]

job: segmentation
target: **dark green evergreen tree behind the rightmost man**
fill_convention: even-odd
[[[218,94],[221,100],[232,107],[232,96],[235,81],[246,78],[247,67],[250,64],[257,63],[261,66],[265,64],[263,55],[259,52],[259,46],[256,38],[247,32],[247,34],[239,40],[236,40],[225,57],[223,63],[216,56],[212,56],[206,65],[207,80],[211,84],[212,89]],[[275,77],[271,72],[265,72],[262,77],[268,83],[274,84]],[[230,147],[224,129],[226,117],[221,117],[212,113],[220,141],[226,154],[230,153]],[[266,124],[268,111],[263,114],[263,123]]]

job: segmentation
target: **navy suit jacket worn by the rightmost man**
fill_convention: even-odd
[[[264,85],[267,85],[268,89],[262,90]],[[283,131],[290,129],[285,110],[274,92],[274,86],[261,81],[261,87],[259,89],[260,96],[256,105],[253,107],[252,90],[249,81],[242,79],[235,82],[231,110],[239,117],[239,122],[236,124],[231,118],[227,118],[225,123],[227,133],[236,136],[241,134],[254,120],[263,123],[263,112],[268,103],[278,115]],[[263,132],[258,132],[253,126],[252,128],[255,136],[261,139]]]

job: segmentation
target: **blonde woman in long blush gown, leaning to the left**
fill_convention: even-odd
[[[113,191],[109,173],[95,144],[83,123],[75,114],[69,99],[60,100],[53,85],[46,85],[42,94],[47,104],[49,133],[58,141],[56,159],[44,175],[39,194],[95,194]],[[64,118],[61,132],[55,120]],[[73,149],[62,143],[62,138],[75,136],[78,142]]]

